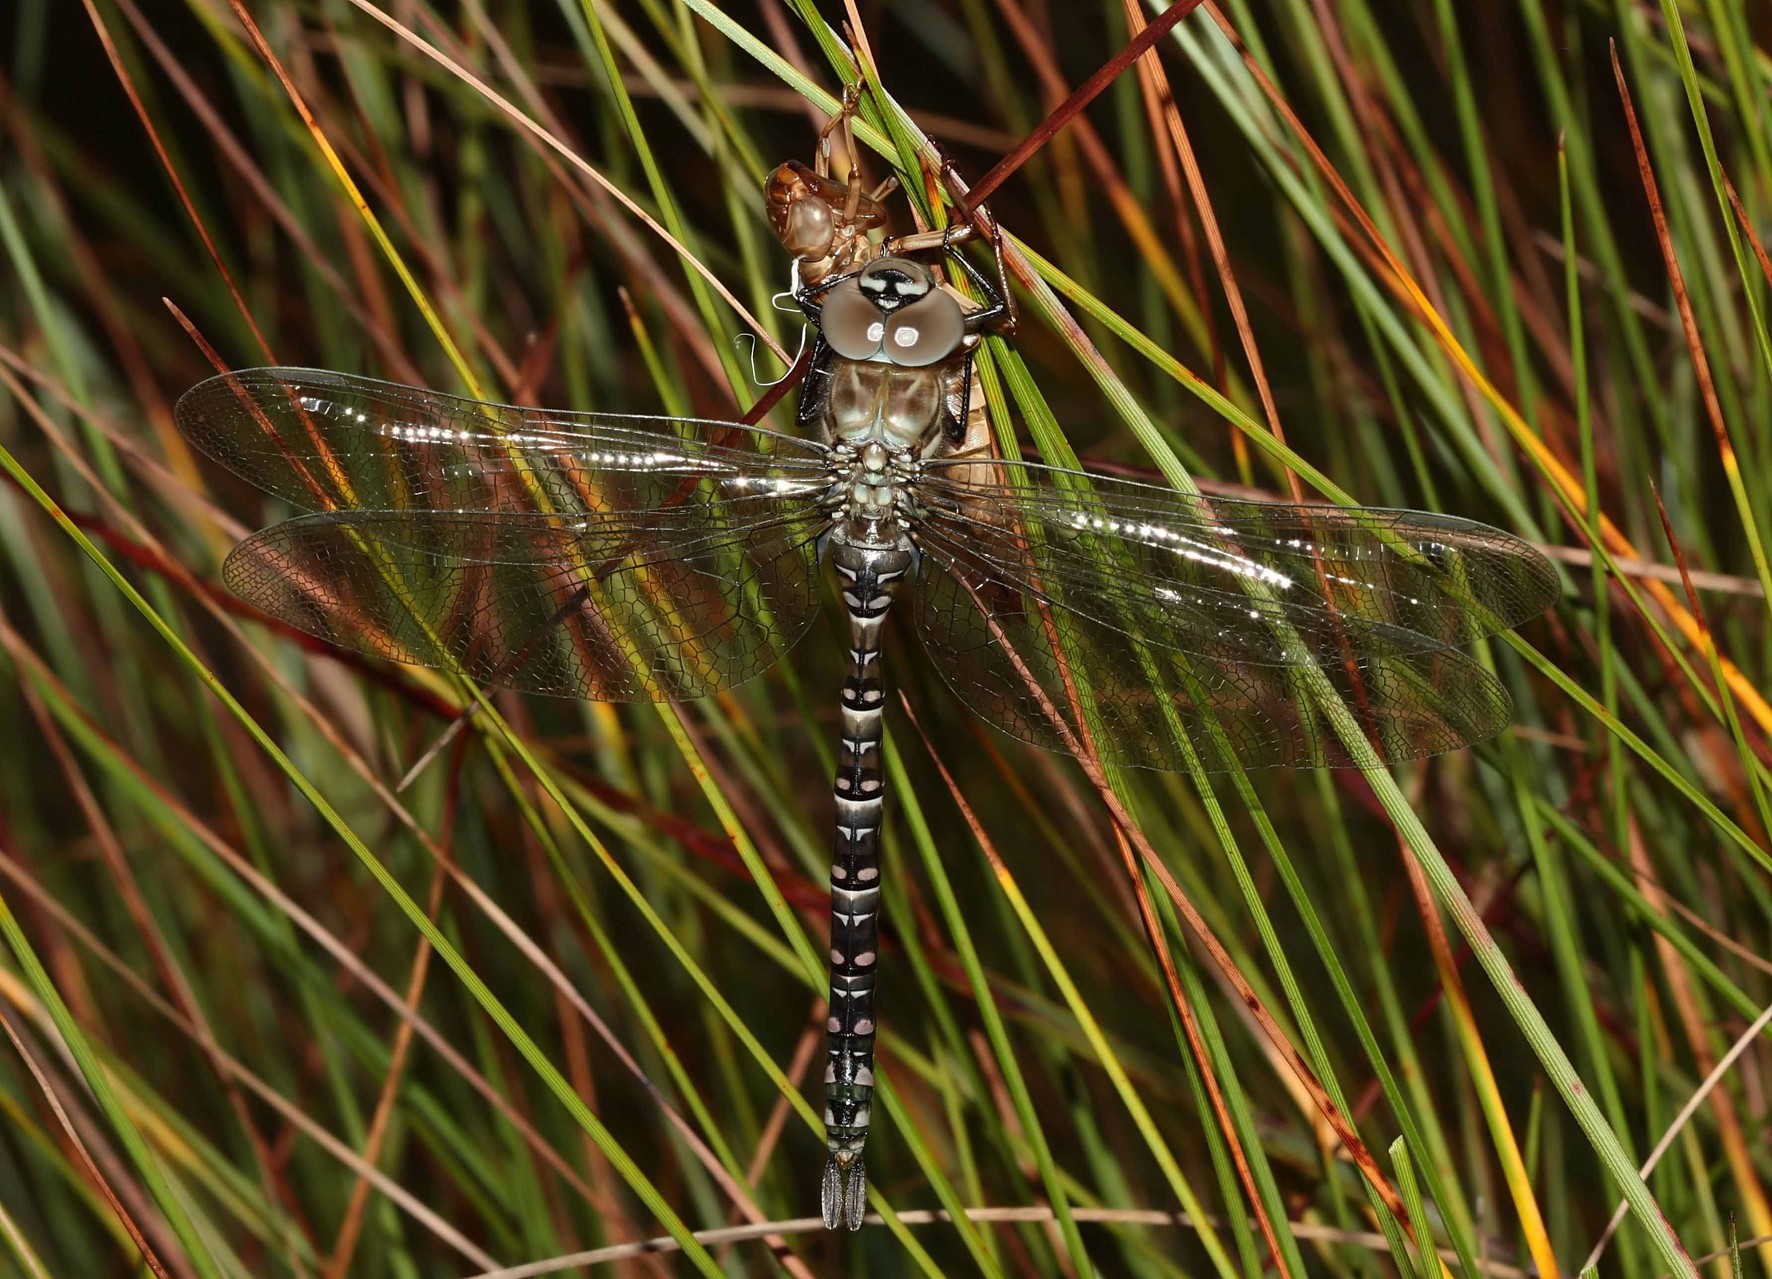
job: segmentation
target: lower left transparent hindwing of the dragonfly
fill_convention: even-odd
[[[822,526],[803,507],[744,528],[698,508],[321,512],[241,542],[223,574],[360,652],[532,693],[682,702],[758,675],[806,632]]]

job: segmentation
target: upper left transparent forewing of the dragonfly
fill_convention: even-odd
[[[174,418],[303,510],[649,510],[826,475],[820,445],[735,423],[482,404],[319,368],[211,377]]]

